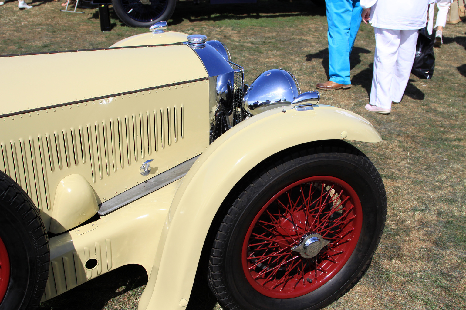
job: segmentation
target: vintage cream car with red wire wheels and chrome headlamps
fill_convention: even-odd
[[[165,29],[0,57],[1,310],[126,264],[148,274],[139,310],[185,309],[198,266],[225,309],[319,309],[368,268],[384,184],[345,140],[374,127]]]

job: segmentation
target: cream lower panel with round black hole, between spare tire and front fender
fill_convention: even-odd
[[[95,222],[50,238],[50,271],[42,301],[127,264],[151,274],[155,251],[181,180],[138,199]],[[85,268],[89,259],[97,266]]]

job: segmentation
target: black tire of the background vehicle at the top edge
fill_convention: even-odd
[[[144,0],[145,2],[145,0]],[[158,21],[168,21],[175,11],[176,0],[112,0],[118,17],[131,27],[150,27]]]

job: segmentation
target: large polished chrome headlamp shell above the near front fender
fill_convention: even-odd
[[[290,73],[283,69],[267,70],[247,89],[243,107],[246,112],[256,115],[279,106],[289,106],[298,95],[298,87]]]

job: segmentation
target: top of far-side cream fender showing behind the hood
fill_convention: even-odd
[[[186,42],[187,36],[186,33],[175,31],[165,31],[164,33],[140,33],[120,40],[110,47],[173,44]]]

